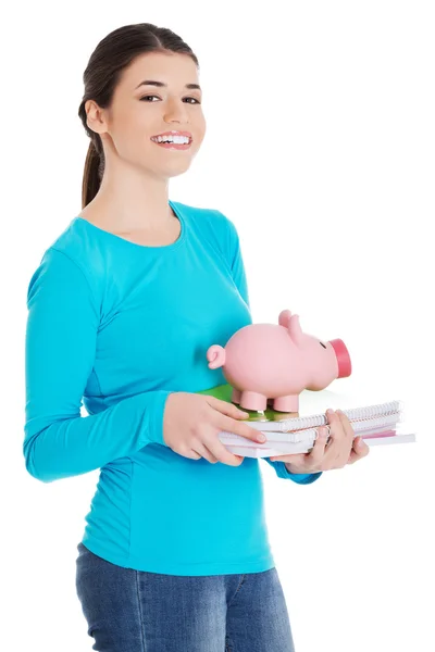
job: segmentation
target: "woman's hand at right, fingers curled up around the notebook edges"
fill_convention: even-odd
[[[326,444],[328,427],[320,426],[319,436],[309,453],[281,455],[270,457],[283,461],[290,473],[319,473],[332,468],[343,468],[346,464],[353,464],[365,457],[370,448],[362,437],[355,437],[350,421],[340,410],[326,410],[330,424],[330,441]]]

